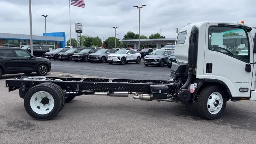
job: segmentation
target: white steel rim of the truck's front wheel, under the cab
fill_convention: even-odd
[[[207,108],[211,114],[220,112],[223,106],[223,98],[219,92],[212,93],[207,100]]]

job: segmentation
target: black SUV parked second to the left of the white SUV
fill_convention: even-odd
[[[78,62],[79,60],[83,60],[84,62],[89,61],[89,54],[97,52],[97,49],[84,49],[81,52],[74,53],[72,58],[74,61]]]

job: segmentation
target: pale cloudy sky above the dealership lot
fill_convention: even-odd
[[[31,0],[33,35],[44,32],[66,32],[69,38],[69,0]],[[174,28],[198,21],[240,22],[256,27],[256,0],[86,0],[86,8],[71,6],[72,37],[76,38],[74,23],[83,24],[83,34],[106,39],[118,38],[128,31],[138,33],[138,9],[141,9],[141,34],[150,36],[162,30],[166,38],[176,37]],[[29,34],[28,0],[0,0],[0,32]],[[255,30],[254,30],[255,32]]]

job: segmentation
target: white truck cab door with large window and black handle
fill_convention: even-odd
[[[225,84],[232,97],[250,97],[252,73],[245,66],[253,62],[252,44],[243,27],[206,26],[204,79]],[[248,91],[241,92],[242,88]]]

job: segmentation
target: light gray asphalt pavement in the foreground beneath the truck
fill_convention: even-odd
[[[60,74],[51,72],[48,76]],[[8,92],[5,87],[5,79],[15,76],[19,75],[0,79],[2,144],[256,143],[255,102],[228,102],[224,115],[210,121],[198,116],[196,103],[78,96],[52,120],[38,121],[26,113],[18,91]]]

